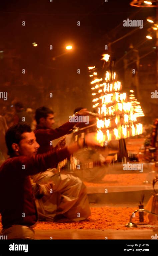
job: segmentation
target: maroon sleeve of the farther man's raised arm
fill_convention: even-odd
[[[35,135],[37,138],[37,142],[40,145],[45,145],[50,141],[53,141],[55,139],[58,139],[65,134],[69,133],[69,131],[72,129],[75,123],[73,122],[66,122],[60,127],[56,129],[39,129],[35,130]]]

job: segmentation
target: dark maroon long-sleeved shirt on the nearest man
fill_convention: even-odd
[[[3,228],[32,226],[38,220],[29,175],[44,172],[70,157],[67,148],[45,154],[7,159],[0,167],[0,213]],[[25,217],[24,217],[25,216]]]

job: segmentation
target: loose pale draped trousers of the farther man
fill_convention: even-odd
[[[32,179],[40,184],[50,183],[46,195],[36,200],[40,220],[51,221],[55,215],[63,214],[67,219],[80,221],[91,215],[87,189],[79,177],[54,174],[49,169],[33,175]]]

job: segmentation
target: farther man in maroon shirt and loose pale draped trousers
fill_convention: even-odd
[[[81,109],[77,113],[77,115],[88,114],[87,109]],[[37,127],[34,132],[37,142],[40,145],[38,153],[45,153],[49,150],[62,148],[65,143],[63,139],[59,141],[55,148],[52,146],[52,140],[69,133],[76,124],[75,122],[66,122],[59,128],[52,129],[54,124],[54,112],[47,107],[38,108],[36,110],[35,119]],[[65,221],[63,215],[65,215],[66,212],[66,217],[70,220],[81,221],[88,218],[90,216],[90,207],[84,183],[79,177],[75,177],[72,174],[59,173],[57,175],[55,172],[56,169],[53,168],[44,173],[41,172],[31,176],[35,183],[47,184],[49,182],[55,182],[57,185],[55,190],[57,193],[50,194],[48,190],[48,193],[45,194],[43,198],[36,201],[40,220],[63,222]],[[61,214],[59,215],[58,197],[65,185],[67,186],[67,195],[64,198],[62,209],[60,209]],[[68,212],[69,208],[71,208],[71,210]]]

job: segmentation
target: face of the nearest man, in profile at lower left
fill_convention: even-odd
[[[38,148],[39,144],[36,141],[34,132],[22,134],[22,140],[18,144],[18,153],[21,156],[35,156]]]

